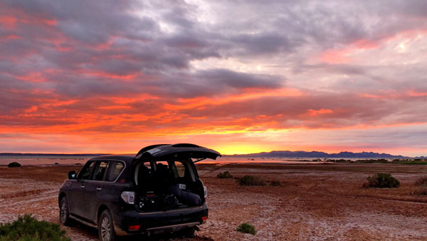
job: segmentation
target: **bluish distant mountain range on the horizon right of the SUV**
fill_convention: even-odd
[[[238,157],[257,157],[257,158],[408,158],[403,155],[390,155],[387,153],[373,153],[373,152],[362,152],[352,153],[348,151],[342,151],[340,153],[324,153],[321,151],[290,151],[290,150],[273,150],[269,153],[252,153],[252,154],[241,154],[241,155],[228,155]]]

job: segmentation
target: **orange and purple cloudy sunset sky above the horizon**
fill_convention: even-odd
[[[0,1],[0,153],[427,155],[427,1]]]

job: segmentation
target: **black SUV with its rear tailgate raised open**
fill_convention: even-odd
[[[208,217],[194,163],[221,156],[193,144],[150,145],[137,155],[92,158],[59,190],[60,222],[97,227],[100,240],[158,232],[194,235]]]

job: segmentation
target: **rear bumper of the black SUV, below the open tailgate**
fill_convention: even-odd
[[[186,227],[194,227],[204,223],[209,210],[206,204],[199,207],[188,207],[179,210],[159,212],[137,212],[127,210],[113,215],[115,232],[117,235],[131,235],[137,233],[177,232]],[[140,225],[138,230],[129,230],[130,225]]]

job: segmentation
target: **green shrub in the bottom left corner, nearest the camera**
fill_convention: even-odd
[[[31,214],[19,216],[14,222],[0,224],[0,240],[70,241],[58,224],[38,221]]]

